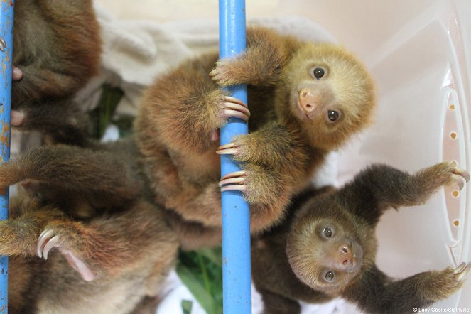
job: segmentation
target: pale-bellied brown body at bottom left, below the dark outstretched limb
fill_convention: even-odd
[[[178,248],[161,210],[146,202],[78,222],[23,197],[12,202],[11,217],[0,229],[0,254],[11,256],[11,313],[131,313],[141,300],[156,296]],[[47,261],[36,256],[44,229],[60,237]],[[66,250],[92,269],[93,281],[67,264],[60,254]]]

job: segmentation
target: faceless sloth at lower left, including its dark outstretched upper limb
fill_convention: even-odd
[[[156,304],[150,301],[174,265],[177,235],[163,209],[142,200],[133,142],[96,148],[41,146],[0,166],[1,187],[19,182],[28,193],[0,222],[0,254],[12,256],[12,313],[146,313]],[[64,256],[35,256],[45,229],[60,237]],[[67,264],[67,250],[93,281]]]

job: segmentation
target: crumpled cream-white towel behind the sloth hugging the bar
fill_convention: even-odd
[[[85,108],[91,109],[97,104],[100,87],[108,82],[124,90],[117,114],[134,116],[143,88],[158,75],[186,58],[217,50],[217,18],[156,23],[119,20],[97,4],[95,9],[102,28],[102,73],[77,96]],[[263,24],[281,33],[316,42],[335,41],[317,24],[297,16],[256,19],[249,24]]]

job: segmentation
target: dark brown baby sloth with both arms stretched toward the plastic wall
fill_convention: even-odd
[[[464,186],[470,175],[455,163],[409,175],[374,165],[340,190],[307,190],[286,220],[254,239],[252,277],[264,313],[300,313],[298,301],[335,297],[367,313],[412,313],[458,291],[471,264],[394,280],[375,264],[375,228],[388,208],[426,202],[441,185]]]

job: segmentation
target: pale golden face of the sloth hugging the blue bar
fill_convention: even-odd
[[[288,112],[315,146],[337,148],[371,121],[372,78],[337,45],[305,45],[286,65],[283,79]]]

